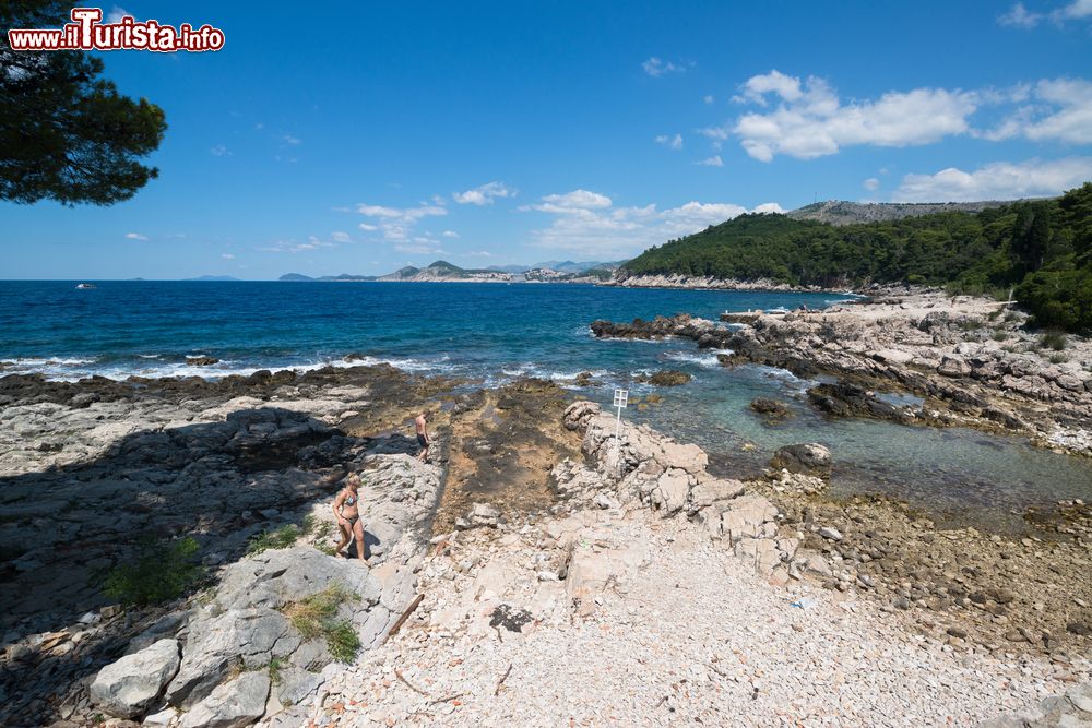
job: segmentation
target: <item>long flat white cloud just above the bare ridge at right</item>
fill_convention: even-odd
[[[1051,162],[996,162],[973,172],[949,167],[935,175],[906,175],[897,202],[971,202],[1055,195],[1092,179],[1092,157]]]

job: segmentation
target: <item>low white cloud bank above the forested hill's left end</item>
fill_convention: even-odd
[[[702,202],[666,210],[658,210],[655,204],[616,207],[610,198],[589,190],[546,195],[541,204],[520,210],[553,215],[548,227],[532,231],[535,247],[601,260],[633,255],[649,246],[697,232],[747,212],[746,207],[731,203]],[[781,212],[781,207],[767,203],[756,211]]]

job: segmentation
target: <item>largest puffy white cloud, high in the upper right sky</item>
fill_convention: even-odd
[[[943,88],[888,92],[875,100],[842,104],[824,80],[809,76],[802,82],[779,71],[748,80],[736,100],[778,104],[768,112],[745,114],[731,127],[747,154],[761,162],[778,154],[812,159],[843,146],[938,142],[968,132],[968,118],[978,104],[972,92]],[[728,126],[702,130],[714,140],[726,139],[728,132]]]

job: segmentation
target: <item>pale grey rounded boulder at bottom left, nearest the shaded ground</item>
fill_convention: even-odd
[[[119,718],[143,715],[178,671],[177,640],[159,640],[107,665],[91,683],[91,701]]]

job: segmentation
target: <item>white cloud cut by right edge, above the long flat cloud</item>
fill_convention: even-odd
[[[1014,97],[1038,103],[1017,109],[995,129],[981,132],[981,136],[990,141],[1025,136],[1033,142],[1092,144],[1092,82],[1043,80],[1034,87],[1019,89]]]

